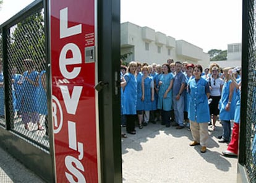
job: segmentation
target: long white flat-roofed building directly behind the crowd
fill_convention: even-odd
[[[202,48],[130,22],[121,23],[121,54],[126,53],[131,53],[127,62],[163,64],[173,58],[174,61],[201,64],[203,68],[210,64],[210,56]]]

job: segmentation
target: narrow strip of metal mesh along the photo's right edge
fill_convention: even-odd
[[[250,182],[256,182],[256,0],[249,1],[249,60],[245,168]],[[241,119],[242,121],[242,119]]]

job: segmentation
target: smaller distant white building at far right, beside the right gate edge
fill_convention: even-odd
[[[236,67],[242,65],[242,44],[228,44],[228,59],[226,61],[211,61],[210,64],[216,63],[221,68]]]

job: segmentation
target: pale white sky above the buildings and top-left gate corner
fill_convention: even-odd
[[[0,24],[33,0],[4,0]],[[121,0],[121,23],[153,28],[208,52],[242,41],[242,0]]]

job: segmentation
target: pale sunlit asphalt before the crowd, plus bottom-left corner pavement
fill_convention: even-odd
[[[215,131],[209,127],[206,153],[200,153],[200,145],[189,147],[192,135],[187,128],[166,128],[158,122],[136,130],[137,134],[122,138],[122,182],[236,182],[237,158],[221,154],[227,143],[218,143],[222,132],[218,122]],[[0,147],[0,183],[6,182],[43,180]]]

